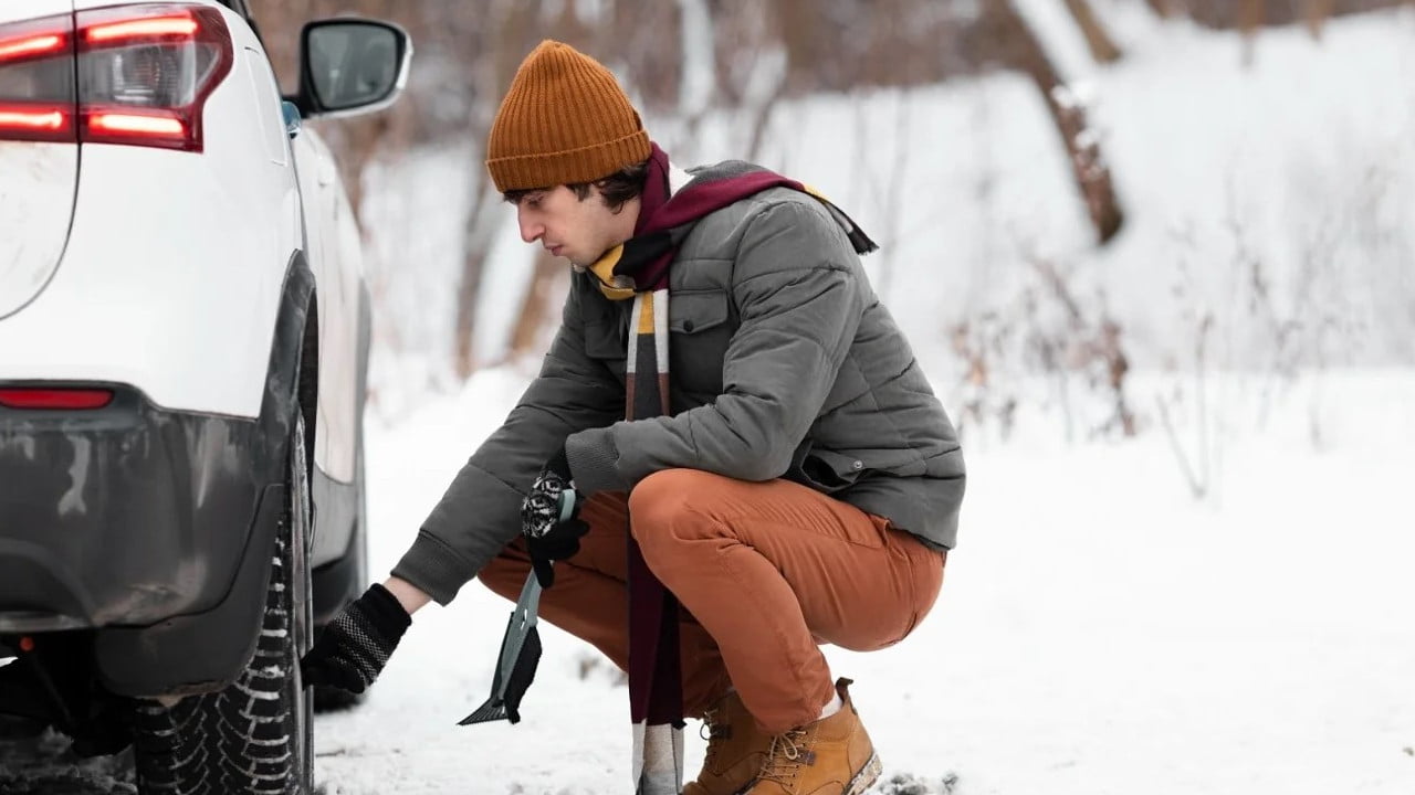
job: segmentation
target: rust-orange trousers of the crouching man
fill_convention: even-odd
[[[893,645],[932,607],[947,555],[804,485],[664,470],[625,499],[597,494],[580,552],[556,562],[541,618],[628,666],[625,530],[682,604],[683,714],[736,687],[761,730],[819,717],[835,693],[819,644]],[[531,571],[519,539],[483,569],[515,600]]]

